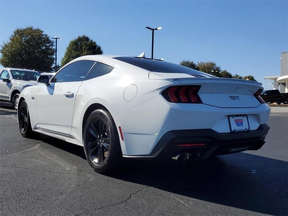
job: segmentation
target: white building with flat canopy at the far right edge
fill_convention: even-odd
[[[288,52],[281,53],[281,72],[280,76],[265,76],[264,79],[270,79],[273,82],[270,85],[273,89],[278,89],[280,93],[288,92]],[[280,89],[279,89],[280,86]]]

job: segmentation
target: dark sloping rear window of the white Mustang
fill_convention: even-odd
[[[215,77],[207,73],[203,73],[180,64],[174,64],[171,62],[165,62],[162,60],[155,59],[144,59],[139,57],[115,57],[114,59],[135,65],[139,68],[143,68],[152,72],[160,73],[188,73],[188,74],[198,74],[205,75],[209,77]]]

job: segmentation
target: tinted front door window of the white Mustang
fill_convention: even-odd
[[[77,82],[83,81],[95,61],[80,60],[73,62],[57,73],[51,82]]]

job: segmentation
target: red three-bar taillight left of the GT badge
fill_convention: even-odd
[[[172,103],[202,103],[198,91],[201,86],[170,86],[162,96]]]

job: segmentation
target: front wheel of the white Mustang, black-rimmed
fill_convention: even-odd
[[[22,101],[19,107],[18,123],[20,133],[23,137],[32,137],[34,135],[31,128],[30,115],[26,101]]]

